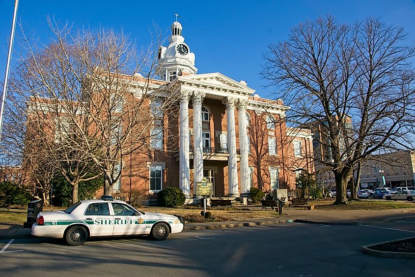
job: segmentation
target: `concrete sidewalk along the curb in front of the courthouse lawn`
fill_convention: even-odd
[[[244,206],[245,208],[247,206]],[[258,207],[249,207],[249,209],[256,210]],[[259,206],[260,209],[260,206]],[[186,230],[202,230],[202,229],[220,229],[220,228],[232,228],[242,226],[255,226],[255,225],[271,225],[278,223],[290,223],[290,222],[306,222],[316,224],[370,224],[374,222],[382,222],[391,219],[397,219],[402,217],[415,217],[415,208],[407,209],[394,209],[394,210],[381,210],[381,211],[366,211],[366,210],[353,210],[353,211],[323,211],[323,210],[298,210],[287,209],[283,210],[283,215],[277,218],[266,219],[252,219],[246,221],[226,221],[226,222],[207,222],[207,223],[187,223],[185,225]],[[16,225],[8,222],[0,222],[0,240],[4,239],[20,239],[32,237],[31,229],[23,228],[22,225]]]

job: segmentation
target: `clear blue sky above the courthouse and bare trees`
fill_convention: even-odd
[[[0,0],[0,77],[5,64],[13,17],[14,0]],[[123,30],[146,47],[150,31],[158,26],[166,38],[169,27],[180,14],[182,35],[196,56],[198,73],[221,72],[248,86],[263,97],[273,89],[263,88],[259,72],[262,55],[272,42],[282,41],[290,29],[306,20],[332,14],[339,22],[353,24],[368,16],[379,17],[388,25],[402,26],[408,43],[415,42],[414,0],[222,0],[222,1],[106,1],[20,0],[18,22],[25,32],[48,41],[47,16],[76,28]],[[18,51],[22,32],[16,30]],[[12,63],[15,65],[16,62]],[[2,89],[2,88],[1,88]]]

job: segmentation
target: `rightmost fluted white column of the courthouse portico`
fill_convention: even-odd
[[[242,196],[248,197],[250,194],[249,184],[249,165],[248,165],[248,134],[247,134],[247,102],[238,101],[238,124],[239,124],[239,148],[241,149],[241,161],[239,172],[239,183],[241,184]]]

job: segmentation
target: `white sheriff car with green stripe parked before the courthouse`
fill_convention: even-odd
[[[143,213],[124,201],[103,196],[83,200],[64,211],[40,212],[32,225],[32,235],[63,238],[69,245],[80,246],[88,237],[150,235],[158,241],[169,233],[180,233],[182,216]]]

